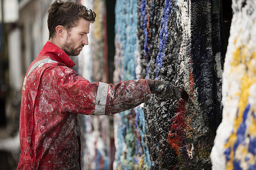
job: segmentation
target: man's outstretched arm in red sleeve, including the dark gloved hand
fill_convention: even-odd
[[[115,84],[90,83],[72,69],[65,69],[59,78],[59,93],[63,112],[81,114],[114,114],[137,107],[159,97],[180,98],[179,88],[158,80],[128,80]]]

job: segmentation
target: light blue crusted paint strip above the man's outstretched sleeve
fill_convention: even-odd
[[[117,1],[115,5],[115,35],[119,35],[118,41],[122,45],[123,68],[121,80],[136,78],[134,52],[137,49],[137,1]]]

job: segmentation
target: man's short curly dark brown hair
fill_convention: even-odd
[[[94,23],[96,18],[96,14],[92,10],[80,3],[70,1],[57,0],[52,3],[48,12],[49,39],[56,35],[55,28],[57,25],[62,25],[69,30],[76,27],[80,18],[89,20],[90,23]]]

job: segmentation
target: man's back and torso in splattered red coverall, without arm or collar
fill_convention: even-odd
[[[77,114],[61,112],[60,63],[38,66],[26,77],[20,109],[21,155],[17,169],[79,169]],[[22,165],[22,166],[20,166]]]

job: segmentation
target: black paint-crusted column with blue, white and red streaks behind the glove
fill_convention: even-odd
[[[143,52],[147,46],[150,50],[142,54],[143,58],[151,57],[144,68],[146,77],[168,80],[193,100],[185,103],[152,96],[146,103],[146,136],[153,169],[210,167],[214,138],[209,127],[209,115],[214,113],[210,3],[189,2],[146,2],[145,9],[154,7],[145,23],[151,37]],[[158,25],[152,27],[154,23]],[[145,43],[146,38],[139,40]]]

